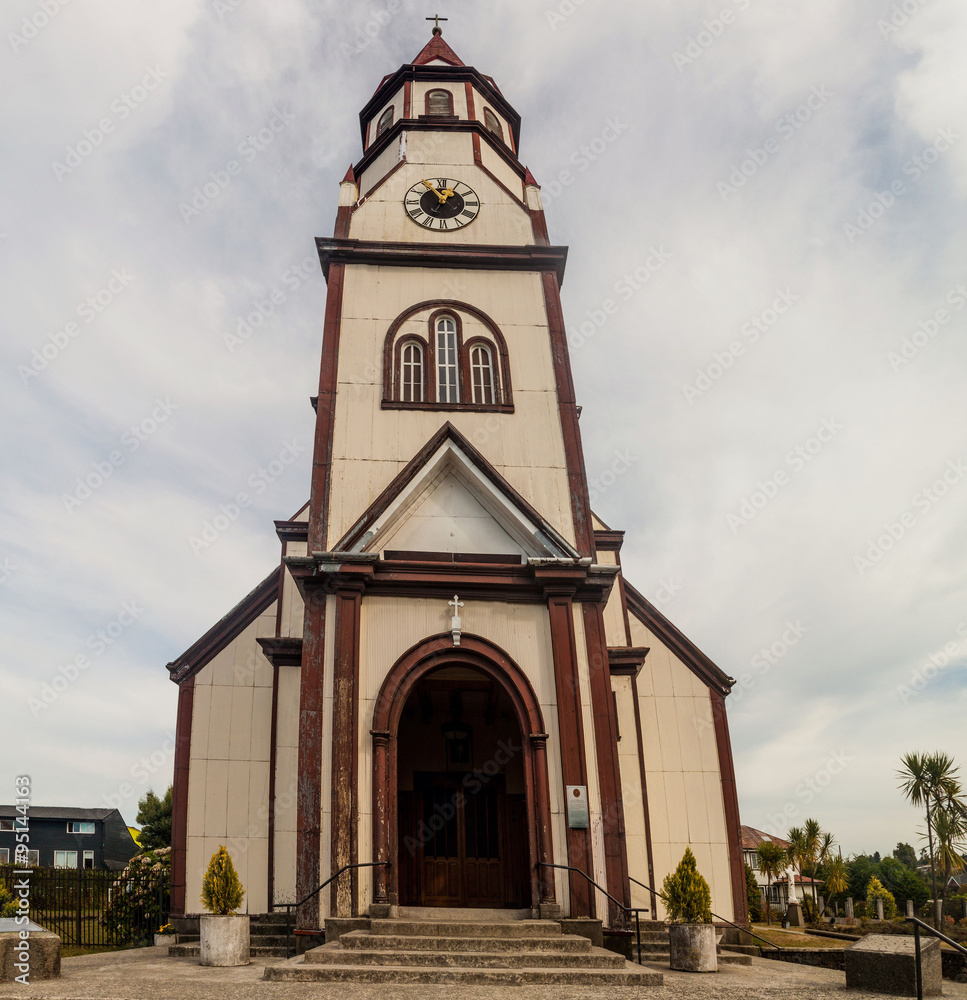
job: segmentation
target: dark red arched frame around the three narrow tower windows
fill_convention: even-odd
[[[429,315],[427,312],[429,311]],[[417,333],[409,321],[418,314],[421,318],[424,336]],[[458,402],[441,402],[437,394],[436,324],[442,316],[449,316],[456,324],[458,351]],[[483,335],[476,335],[464,342],[463,317],[473,317],[484,328]],[[404,325],[406,329],[404,330]],[[407,343],[416,342],[423,346],[423,401],[411,402],[403,399],[402,353]],[[485,346],[490,351],[493,376],[493,402],[473,401],[473,375],[471,371],[471,351],[474,346]],[[390,325],[383,347],[383,409],[414,410],[474,410],[499,413],[513,413],[513,390],[510,380],[510,359],[507,343],[496,323],[482,310],[466,302],[451,299],[436,299],[417,303],[402,312]]]

